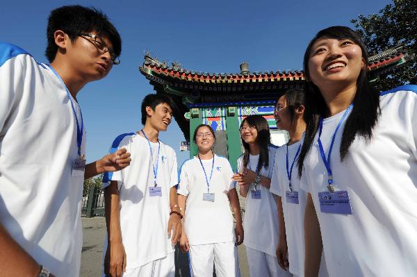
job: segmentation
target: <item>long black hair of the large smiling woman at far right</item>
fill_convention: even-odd
[[[305,88],[307,102],[304,112],[306,132],[304,135],[304,143],[302,144],[302,149],[300,151],[300,158],[298,160],[299,176],[302,174],[304,158],[311,149],[314,137],[318,131],[319,119],[320,117],[325,117],[327,112],[325,99],[320,93],[319,88],[311,81],[309,72],[311,47],[313,47],[314,42],[323,37],[336,40],[352,40],[354,44],[357,44],[361,48],[362,58],[365,61],[365,66],[361,69],[357,78],[357,90],[352,100],[354,106],[349,117],[346,119],[345,128],[342,134],[341,148],[339,149],[342,162],[345,160],[347,151],[357,135],[363,137],[367,142],[370,141],[373,135],[373,128],[376,126],[380,114],[379,92],[375,90],[368,81],[368,53],[359,34],[345,26],[332,26],[319,31],[316,36],[313,37],[313,40],[311,40],[304,53],[303,66],[304,76],[306,78]]]

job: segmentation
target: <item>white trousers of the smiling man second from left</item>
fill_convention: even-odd
[[[123,277],[174,277],[174,252],[168,254],[165,258],[154,260],[142,267],[136,269],[126,269]]]

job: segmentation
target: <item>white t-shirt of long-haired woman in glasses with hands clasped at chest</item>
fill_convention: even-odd
[[[269,166],[262,167],[259,172],[262,176],[271,178],[274,168],[275,151],[277,146],[268,146]],[[250,156],[250,169],[256,171],[257,159],[259,156]],[[251,165],[251,164],[254,165]],[[238,158],[238,171],[243,168],[243,155]],[[263,185],[256,186],[261,191],[261,199],[252,199],[251,190],[254,190],[254,183],[250,185],[245,201],[245,219],[243,228],[245,230],[245,246],[275,256],[278,245],[278,211],[274,196]]]

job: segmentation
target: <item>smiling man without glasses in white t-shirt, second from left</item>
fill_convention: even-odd
[[[148,94],[142,130],[118,136],[111,151],[127,149],[133,163],[105,174],[107,238],[104,275],[174,276],[174,245],[181,237],[174,149],[158,140],[172,120],[171,100]]]

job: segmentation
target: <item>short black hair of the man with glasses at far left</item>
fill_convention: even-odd
[[[106,37],[113,44],[115,56],[122,52],[122,39],[115,26],[111,24],[108,17],[96,8],[85,8],[83,6],[63,6],[52,10],[48,18],[47,26],[47,49],[45,56],[49,62],[55,60],[58,46],[55,43],[54,33],[57,30],[65,32],[74,42],[79,33],[95,31],[99,37]]]

